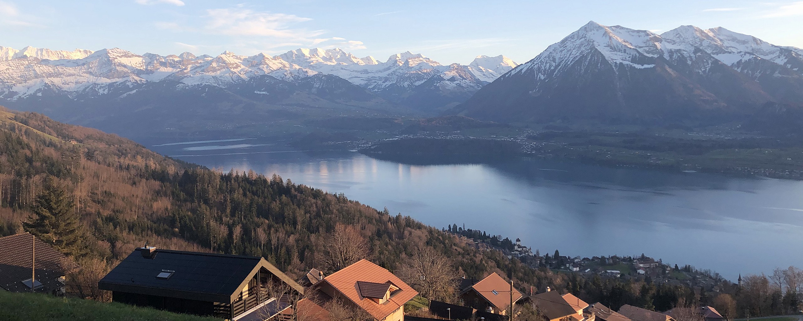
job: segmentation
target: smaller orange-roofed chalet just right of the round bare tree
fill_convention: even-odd
[[[505,315],[507,307],[511,302],[511,285],[499,274],[491,273],[479,282],[460,291],[459,297],[463,299],[469,307],[479,311],[487,311],[499,315]],[[515,288],[513,289],[512,301],[515,304],[524,295]]]

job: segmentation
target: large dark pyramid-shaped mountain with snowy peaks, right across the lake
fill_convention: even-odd
[[[647,123],[738,118],[767,104],[803,106],[800,48],[722,27],[658,35],[589,22],[454,112],[499,121]]]

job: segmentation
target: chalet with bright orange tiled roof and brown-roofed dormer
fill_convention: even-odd
[[[314,278],[314,273],[312,276]],[[365,311],[378,321],[402,321],[405,303],[410,302],[418,292],[389,270],[363,259],[320,278],[308,288],[306,295],[321,298],[316,299],[316,303],[340,299],[349,307]]]

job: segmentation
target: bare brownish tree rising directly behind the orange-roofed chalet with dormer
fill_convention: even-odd
[[[355,226],[338,224],[324,244],[324,265],[337,271],[368,257],[368,242]]]

